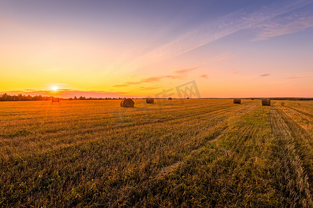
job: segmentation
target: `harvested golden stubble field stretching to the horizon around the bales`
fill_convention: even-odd
[[[313,101],[0,103],[0,207],[312,207]]]

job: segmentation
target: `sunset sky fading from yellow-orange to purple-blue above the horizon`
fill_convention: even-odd
[[[313,97],[312,0],[0,0],[0,28],[0,94]]]

